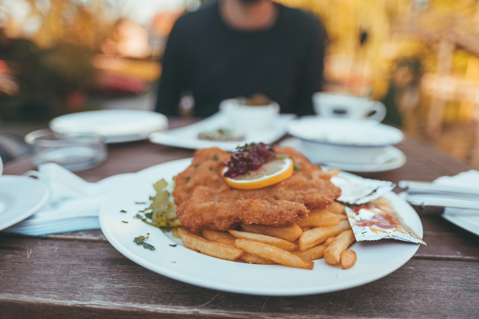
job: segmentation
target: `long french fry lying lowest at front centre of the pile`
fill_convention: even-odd
[[[312,261],[303,259],[294,253],[290,253],[284,249],[263,242],[255,242],[249,239],[237,239],[235,241],[235,247],[247,253],[272,260],[285,266],[309,270],[313,269],[314,263]]]

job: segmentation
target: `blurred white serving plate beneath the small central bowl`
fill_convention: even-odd
[[[215,130],[219,128],[228,128],[228,118],[223,112],[217,112],[205,120],[187,125],[178,129],[166,132],[151,133],[149,139],[152,143],[176,146],[189,149],[198,149],[205,147],[219,147],[225,151],[232,151],[238,145],[245,143],[263,142],[273,143],[285,135],[285,125],[296,117],[294,114],[280,114],[273,128],[269,130],[250,130],[245,132],[244,141],[220,142],[198,139],[199,132],[206,130]]]

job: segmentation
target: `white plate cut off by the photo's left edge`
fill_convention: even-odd
[[[48,187],[32,177],[0,176],[0,230],[32,216],[48,198]]]

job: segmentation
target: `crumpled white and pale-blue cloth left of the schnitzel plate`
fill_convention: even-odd
[[[119,174],[90,183],[55,163],[38,166],[35,176],[51,190],[48,203],[31,217],[3,231],[45,235],[66,231],[99,229],[98,213],[104,196],[134,173]]]

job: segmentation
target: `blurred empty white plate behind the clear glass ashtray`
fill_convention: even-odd
[[[50,128],[62,134],[95,133],[105,143],[144,140],[151,132],[168,128],[163,114],[146,110],[97,110],[71,113],[50,121]]]

